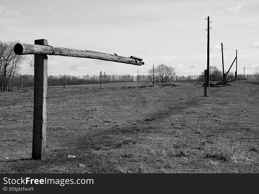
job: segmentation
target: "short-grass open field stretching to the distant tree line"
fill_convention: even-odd
[[[208,97],[201,83],[48,87],[42,161],[30,159],[33,88],[1,92],[0,172],[259,173],[258,84]]]

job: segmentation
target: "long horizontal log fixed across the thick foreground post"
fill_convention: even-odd
[[[74,48],[63,48],[49,45],[28,45],[17,43],[14,46],[14,53],[16,55],[59,55],[68,57],[92,58],[104,61],[113,61],[118,63],[127,63],[132,65],[144,65],[144,62],[137,61],[129,57],[116,56],[107,53],[100,53],[92,50],[80,50]]]

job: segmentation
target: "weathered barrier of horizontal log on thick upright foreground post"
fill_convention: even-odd
[[[33,108],[33,134],[32,159],[40,160],[45,157],[46,129],[47,129],[47,55],[59,55],[81,58],[92,58],[104,61],[114,61],[132,65],[144,65],[142,58],[130,56],[122,57],[91,50],[79,50],[48,45],[48,40],[34,40],[34,45],[17,43],[14,46],[16,55],[34,54],[34,108]]]

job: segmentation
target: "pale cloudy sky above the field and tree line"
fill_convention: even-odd
[[[259,0],[0,0],[0,40],[117,53],[143,58],[145,65],[49,56],[48,74],[147,74],[161,63],[177,75],[200,74],[210,65],[228,69],[238,50],[238,73],[259,65]],[[235,71],[235,67],[232,68]],[[22,64],[21,74],[33,74]]]

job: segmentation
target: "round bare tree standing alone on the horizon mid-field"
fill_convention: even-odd
[[[154,69],[154,79],[158,84],[163,84],[173,77],[174,72],[173,67],[161,64]],[[149,75],[153,77],[153,68],[149,70]]]

